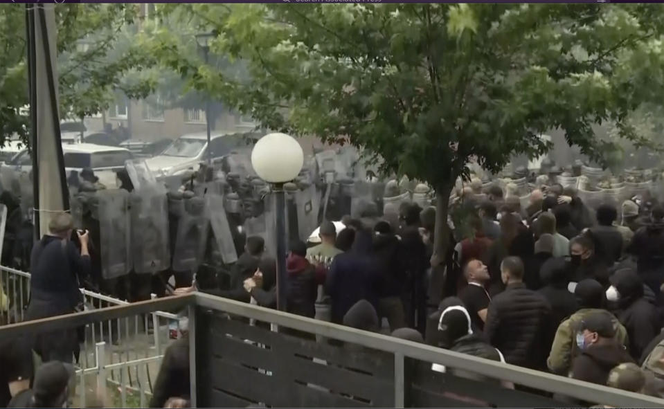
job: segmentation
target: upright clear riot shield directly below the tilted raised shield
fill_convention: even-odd
[[[130,200],[134,271],[148,274],[168,269],[170,249],[165,191],[157,188],[134,190]]]

